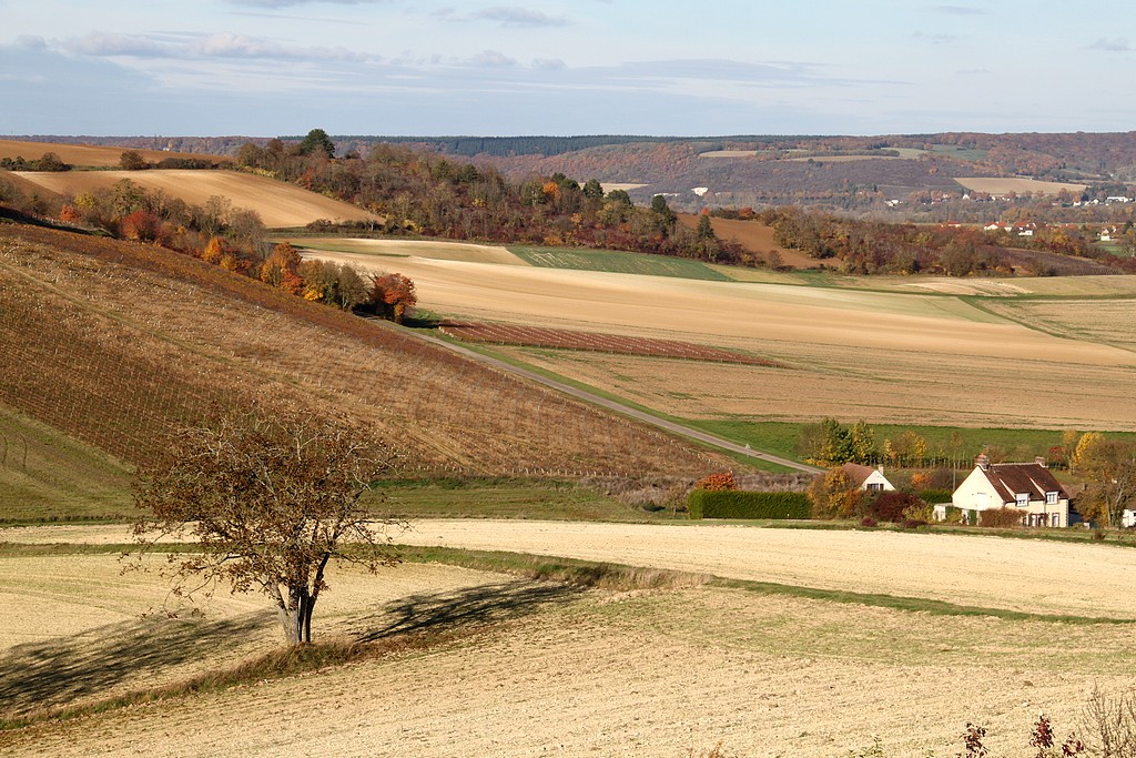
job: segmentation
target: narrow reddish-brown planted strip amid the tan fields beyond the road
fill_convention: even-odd
[[[746,356],[729,350],[716,350],[691,342],[675,340],[650,340],[618,334],[574,332],[569,330],[538,328],[535,326],[509,326],[506,324],[473,324],[446,322],[440,331],[466,342],[488,342],[492,344],[518,344],[527,347],[556,348],[558,350],[588,350],[625,356],[655,356],[685,360],[710,360],[751,366],[778,365],[771,360]]]

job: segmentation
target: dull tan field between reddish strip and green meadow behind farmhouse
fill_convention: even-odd
[[[872,350],[868,366],[849,366],[840,347],[750,343],[792,370],[699,365],[661,358],[499,350],[599,390],[679,418],[820,420],[863,418],[916,426],[1131,431],[1136,413],[1124,388],[1130,368],[1084,368],[1054,375],[1045,359],[944,358],[919,351]],[[968,385],[959,377],[996,376]],[[1053,402],[1061,383],[1077,392]],[[1047,388],[1042,390],[1041,388]]]

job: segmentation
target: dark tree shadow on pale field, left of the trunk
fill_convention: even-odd
[[[172,666],[208,660],[275,620],[270,611],[223,620],[148,617],[27,642],[0,655],[0,709],[15,717],[98,698],[132,678],[141,684]]]

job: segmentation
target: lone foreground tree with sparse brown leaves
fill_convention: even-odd
[[[218,584],[262,591],[287,643],[311,642],[333,558],[371,572],[398,561],[385,535],[393,524],[359,505],[394,460],[362,427],[298,411],[226,414],[184,428],[135,475],[145,514],[134,528],[139,557],[160,539],[186,540],[194,551],[169,557],[176,594]]]

